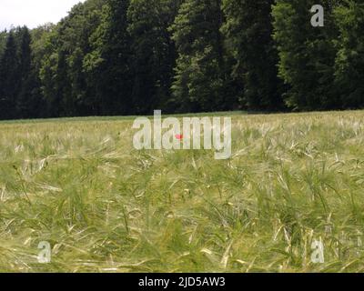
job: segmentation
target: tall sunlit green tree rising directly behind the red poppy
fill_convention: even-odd
[[[182,110],[222,110],[227,105],[223,22],[220,0],[187,0],[171,26],[178,52],[172,88]]]

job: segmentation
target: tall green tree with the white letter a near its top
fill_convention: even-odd
[[[312,27],[313,0],[277,0],[273,7],[274,38],[278,44],[279,75],[289,85],[285,100],[298,110],[322,110],[339,106],[333,86],[338,31],[332,1],[322,1],[325,26]]]

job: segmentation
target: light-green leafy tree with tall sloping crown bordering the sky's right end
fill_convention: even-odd
[[[97,114],[94,83],[85,70],[86,55],[92,52],[90,38],[101,23],[104,0],[88,0],[45,35],[39,53],[40,79],[48,115]]]

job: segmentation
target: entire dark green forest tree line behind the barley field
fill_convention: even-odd
[[[359,0],[87,0],[0,33],[0,119],[363,108],[363,32]]]

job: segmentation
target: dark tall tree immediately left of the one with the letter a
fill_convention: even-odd
[[[224,0],[223,32],[235,57],[234,77],[244,85],[241,101],[253,110],[282,109],[278,52],[272,34],[274,0]]]

